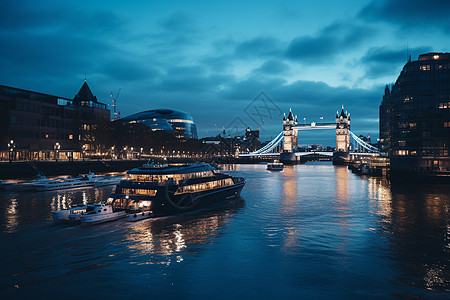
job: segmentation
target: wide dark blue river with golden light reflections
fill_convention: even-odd
[[[240,199],[83,228],[51,212],[113,187],[0,193],[0,298],[450,299],[449,186],[329,162],[223,172],[246,178]]]

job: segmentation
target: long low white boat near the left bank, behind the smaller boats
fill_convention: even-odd
[[[24,190],[32,191],[54,191],[62,189],[73,189],[80,187],[92,187],[95,185],[96,176],[93,173],[77,177],[50,180],[42,176],[34,181],[21,185]]]

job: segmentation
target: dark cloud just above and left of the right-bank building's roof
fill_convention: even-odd
[[[416,47],[411,49],[389,49],[387,47],[370,48],[361,58],[359,64],[366,69],[366,78],[374,79],[384,76],[397,76],[408,60],[410,54],[416,59],[419,54],[427,53],[431,48]]]

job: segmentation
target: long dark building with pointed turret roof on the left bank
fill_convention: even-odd
[[[74,99],[0,85],[0,149],[17,159],[98,150],[109,119],[86,81]]]

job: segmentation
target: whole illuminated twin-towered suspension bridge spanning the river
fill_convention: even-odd
[[[350,113],[344,111],[342,106],[341,113],[336,112],[335,123],[316,123],[298,124],[297,116],[294,117],[292,110],[283,117],[283,130],[269,143],[261,149],[254,152],[239,154],[240,157],[275,157],[279,156],[284,163],[295,163],[301,156],[320,154],[333,157],[333,163],[345,163],[350,159],[350,154],[379,156],[380,150],[375,146],[361,140],[356,134],[350,131]],[[299,131],[302,130],[336,130],[336,150],[334,152],[298,152]],[[364,153],[350,153],[352,142],[357,148],[364,149]],[[356,148],[356,147],[355,147]],[[276,149],[280,149],[279,152]]]

